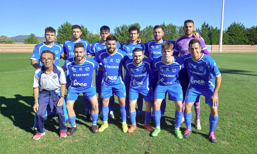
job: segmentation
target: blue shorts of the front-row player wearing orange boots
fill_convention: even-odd
[[[142,96],[143,96],[143,98],[145,99],[146,102],[153,102],[153,91],[152,91],[152,89],[145,90],[143,92],[137,92],[134,89],[129,89],[129,100],[137,100],[139,93],[142,94]]]

